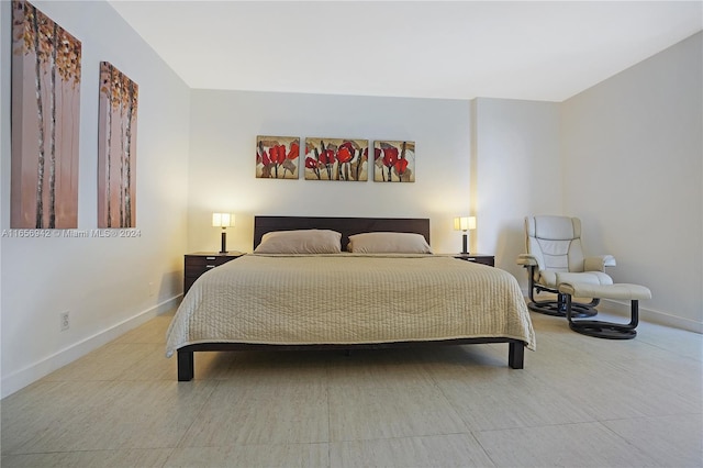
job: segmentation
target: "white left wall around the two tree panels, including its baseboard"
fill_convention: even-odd
[[[2,237],[2,395],[172,307],[186,249],[189,88],[107,2],[33,4],[82,42],[78,231],[97,226],[99,63],[140,86],[141,236]],[[0,2],[2,230],[10,229],[10,7]],[[60,332],[64,311],[70,328]]]

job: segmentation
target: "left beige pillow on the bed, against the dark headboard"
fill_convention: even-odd
[[[339,254],[342,234],[328,230],[274,231],[261,236],[255,254]]]

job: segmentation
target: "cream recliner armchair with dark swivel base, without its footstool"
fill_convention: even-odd
[[[566,298],[559,285],[587,283],[612,285],[604,272],[615,266],[612,255],[587,257],[581,245],[581,221],[568,216],[526,216],[525,235],[527,253],[517,257],[517,264],[529,274],[529,310],[549,315],[566,316]],[[536,301],[535,292],[557,294],[556,300]],[[572,302],[571,316],[592,316],[598,313],[600,299],[589,303]]]

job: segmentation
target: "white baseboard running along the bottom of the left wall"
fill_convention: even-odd
[[[182,296],[179,294],[167,299],[150,309],[140,312],[138,314],[111,326],[110,328],[81,339],[80,342],[60,349],[37,363],[18,370],[16,372],[4,376],[2,378],[2,385],[0,386],[0,398],[5,398],[7,395],[14,393],[42,377],[49,375],[54,370],[59,369],[100,346],[110,343],[130,330],[146,323],[157,315],[172,310],[178,305],[178,301],[181,297]]]

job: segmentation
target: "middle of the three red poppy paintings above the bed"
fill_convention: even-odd
[[[305,180],[368,180],[368,140],[305,138]]]

